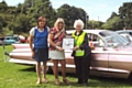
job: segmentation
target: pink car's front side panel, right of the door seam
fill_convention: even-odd
[[[128,78],[131,74],[131,52],[111,52],[109,54],[109,75],[111,77]]]

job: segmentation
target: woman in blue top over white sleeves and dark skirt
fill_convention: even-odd
[[[46,80],[46,63],[48,61],[48,44],[47,44],[48,28],[46,26],[46,19],[40,16],[37,20],[37,26],[32,28],[30,31],[30,47],[32,57],[36,62],[37,85],[42,84],[41,78],[41,62],[44,67],[44,82]],[[34,44],[34,46],[32,45]]]

